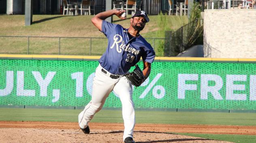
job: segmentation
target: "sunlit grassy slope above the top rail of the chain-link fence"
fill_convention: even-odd
[[[33,15],[33,24],[24,26],[24,15],[0,15],[0,35],[9,36],[56,36],[56,37],[105,37],[91,23],[93,16],[63,16],[63,15]],[[130,17],[119,20],[113,16],[113,23],[129,28]],[[188,23],[186,16],[166,15],[168,26],[172,30]],[[146,24],[141,35],[143,37],[156,37],[158,15],[149,16],[150,22]],[[163,37],[158,37],[163,38]]]

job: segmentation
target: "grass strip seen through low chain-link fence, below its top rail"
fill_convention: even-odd
[[[155,50],[164,38],[145,38]],[[0,36],[0,54],[102,55],[105,37]],[[156,53],[157,54],[157,53]]]

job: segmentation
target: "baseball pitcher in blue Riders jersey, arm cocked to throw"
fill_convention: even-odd
[[[151,63],[155,52],[151,45],[139,34],[149,22],[144,11],[136,11],[130,19],[130,27],[125,29],[121,25],[105,21],[116,15],[126,19],[125,10],[108,10],[98,13],[92,18],[92,23],[108,38],[106,52],[101,56],[93,79],[92,100],[85,106],[78,116],[81,130],[90,133],[88,123],[94,114],[100,111],[111,91],[119,95],[122,102],[122,116],[124,119],[125,143],[133,141],[135,126],[134,104],[132,101],[132,85],[140,86],[150,74]],[[143,70],[137,66],[140,58],[143,60]],[[132,66],[134,71],[129,73]]]

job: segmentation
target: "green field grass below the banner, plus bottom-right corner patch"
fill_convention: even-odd
[[[77,116],[81,111],[82,109],[0,108],[0,120],[77,122]],[[135,112],[137,123],[256,126],[256,114],[254,113],[168,112],[141,110],[135,110]],[[101,110],[94,116],[92,122],[122,123],[122,112],[121,110]],[[221,141],[231,141],[235,143],[256,142],[255,135],[178,134]]]

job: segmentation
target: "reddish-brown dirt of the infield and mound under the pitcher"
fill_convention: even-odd
[[[122,123],[90,123],[85,135],[77,122],[8,122],[0,121],[2,143],[122,143]],[[256,135],[256,126],[213,126],[181,124],[136,124],[137,143],[228,143],[177,135],[175,133]]]

